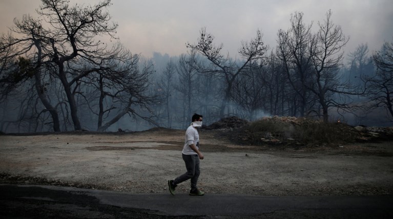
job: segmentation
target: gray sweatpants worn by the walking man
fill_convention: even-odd
[[[179,183],[191,179],[191,189],[196,189],[196,184],[198,182],[198,177],[200,173],[199,157],[198,155],[184,155],[184,154],[181,155],[185,163],[185,168],[187,168],[187,172],[177,177],[173,181],[173,184],[177,185]]]

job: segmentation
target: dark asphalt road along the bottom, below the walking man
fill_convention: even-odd
[[[393,218],[393,195],[134,194],[0,185],[1,218]]]

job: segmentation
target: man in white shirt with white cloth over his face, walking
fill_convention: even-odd
[[[199,159],[203,160],[203,155],[199,151],[199,134],[197,127],[202,126],[202,115],[194,114],[192,116],[192,123],[185,131],[184,147],[181,151],[181,156],[185,163],[187,172],[177,177],[175,180],[169,180],[168,186],[169,191],[172,195],[175,195],[175,188],[177,184],[182,183],[186,180],[191,179],[191,190],[190,195],[203,195],[204,192],[199,191],[197,188],[197,182],[199,177]]]

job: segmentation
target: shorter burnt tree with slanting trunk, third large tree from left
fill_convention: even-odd
[[[98,100],[98,110],[91,108],[91,112],[98,116],[97,130],[105,131],[127,114],[154,123],[150,118],[152,115],[141,115],[137,110],[150,114],[149,104],[157,99],[147,93],[152,66],[141,67],[139,55],[133,55],[119,43],[99,61],[101,63],[97,63],[97,68],[79,70],[80,74],[90,72],[82,81],[85,86],[94,86],[98,93],[98,98],[95,98]]]

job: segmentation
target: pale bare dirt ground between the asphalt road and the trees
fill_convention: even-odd
[[[235,145],[201,130],[199,188],[252,195],[393,194],[393,142],[288,147]],[[185,172],[184,130],[0,135],[0,183],[166,193]],[[188,192],[189,182],[177,192]]]

